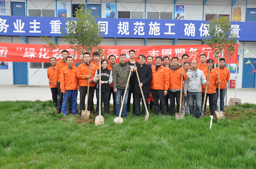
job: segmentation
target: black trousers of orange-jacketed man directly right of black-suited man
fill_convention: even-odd
[[[162,114],[166,115],[166,101],[165,96],[163,94],[164,90],[155,90],[151,89],[152,92],[152,98],[153,98],[153,104],[154,104],[154,112],[156,115],[159,115],[159,103],[158,100],[160,100],[160,106],[162,110]]]

